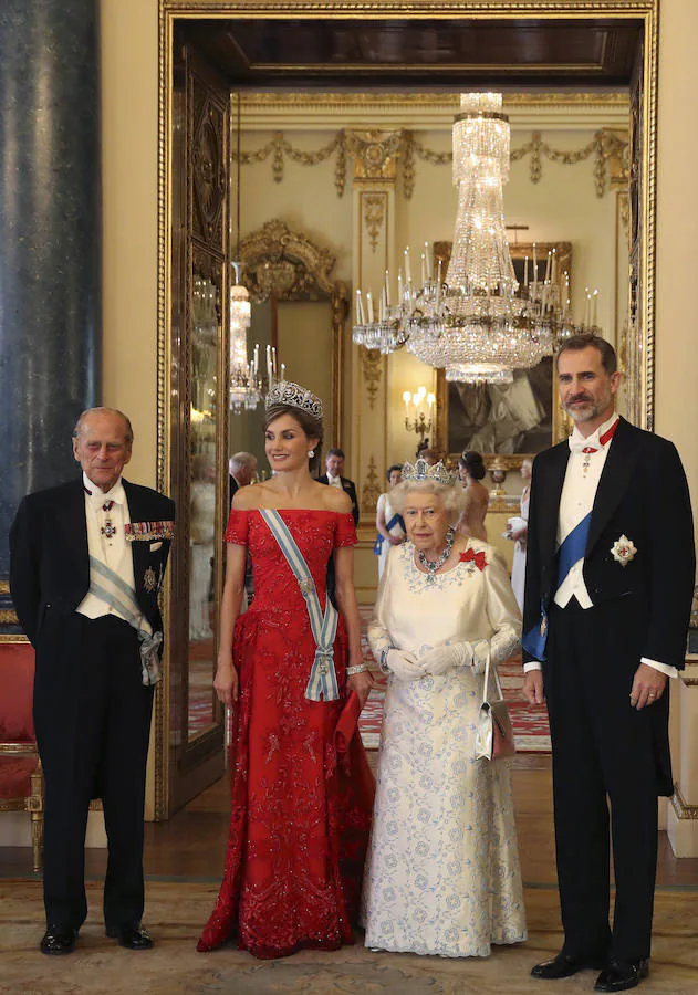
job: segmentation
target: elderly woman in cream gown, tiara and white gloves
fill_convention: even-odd
[[[487,653],[512,653],[521,617],[493,548],[454,532],[448,479],[417,460],[392,494],[408,542],[368,630],[388,680],[362,918],[372,949],[488,956],[527,939],[510,762],[475,756]]]

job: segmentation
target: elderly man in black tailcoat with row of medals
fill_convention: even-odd
[[[71,953],[87,914],[91,798],[103,800],[108,840],[107,935],[131,950],[153,946],[140,925],[143,809],[175,505],[122,478],[132,443],[121,411],[83,412],[73,434],[82,475],[24,498],[10,533],[12,600],[37,651],[45,954]]]

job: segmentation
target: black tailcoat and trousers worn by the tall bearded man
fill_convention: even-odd
[[[694,527],[676,448],[619,419],[603,467],[584,554],[593,607],[560,609],[558,522],[570,447],[533,463],[523,631],[549,617],[543,683],[553,744],[558,876],[565,952],[649,955],[657,795],[671,795],[669,693],[629,704],[640,658],[683,669],[695,583]],[[623,565],[621,536],[636,547]],[[524,652],[524,662],[533,658]],[[611,806],[607,809],[606,797]],[[608,930],[608,818],[616,902]]]

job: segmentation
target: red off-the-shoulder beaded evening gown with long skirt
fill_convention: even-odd
[[[327,561],[356,543],[351,514],[281,510],[325,604]],[[373,807],[373,778],[356,733],[335,735],[346,703],[347,640],[340,616],[338,701],[309,701],[315,654],[298,582],[259,511],[231,511],[226,541],[247,545],[254,598],[236,624],[240,678],[231,769],[230,837],[216,908],[198,943],[237,936],[258,957],[352,943]]]

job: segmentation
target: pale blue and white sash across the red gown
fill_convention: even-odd
[[[310,627],[317,647],[308,687],[305,688],[305,698],[310,699],[310,701],[322,701],[323,699],[325,701],[337,701],[340,698],[340,688],[334,671],[333,648],[334,637],[337,632],[337,610],[330,598],[326,598],[325,614],[323,617],[320,598],[317,597],[315,584],[308,568],[308,564],[279,512],[269,509],[260,509],[260,514],[269,526],[269,531],[279,543],[287,563],[293,570],[295,579],[299,583],[301,594],[305,598]]]

